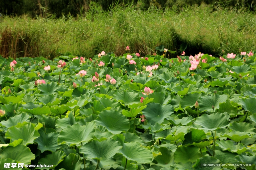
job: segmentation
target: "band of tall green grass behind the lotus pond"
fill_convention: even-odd
[[[93,5],[73,17],[5,17],[0,19],[0,54],[5,57],[81,55],[92,57],[102,50],[116,55],[155,47],[179,52],[186,43],[187,54],[213,55],[256,49],[255,14],[244,10],[216,10],[208,6],[159,10],[140,7],[114,7],[103,11]]]

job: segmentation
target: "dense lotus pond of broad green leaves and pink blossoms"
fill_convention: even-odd
[[[254,169],[256,51],[168,53],[1,57],[0,169]]]

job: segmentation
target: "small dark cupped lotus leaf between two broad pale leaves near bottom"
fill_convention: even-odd
[[[156,165],[162,166],[162,167],[170,167],[171,165],[175,164],[173,159],[174,152],[170,151],[166,147],[160,147],[158,148],[158,151],[161,152],[161,155],[157,155],[155,157],[155,160],[157,161]]]

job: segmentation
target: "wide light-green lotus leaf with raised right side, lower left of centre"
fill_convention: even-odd
[[[79,124],[68,126],[61,130],[58,143],[65,142],[70,146],[85,144],[93,138],[95,126],[95,122],[87,122],[86,126],[80,126]]]

